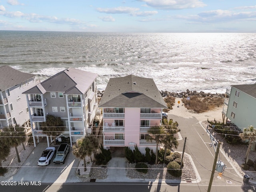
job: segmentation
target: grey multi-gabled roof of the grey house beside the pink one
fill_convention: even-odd
[[[68,68],[27,90],[24,94],[44,94],[45,92],[84,94],[97,76],[91,72]]]

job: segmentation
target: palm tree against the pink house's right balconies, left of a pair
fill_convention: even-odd
[[[149,137],[147,140],[156,141],[156,164],[158,163],[158,145],[164,138],[164,129],[162,126],[153,126],[148,129]]]

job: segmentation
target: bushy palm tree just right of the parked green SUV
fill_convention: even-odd
[[[84,160],[84,171],[86,171],[85,157],[91,156],[98,148],[98,140],[95,136],[85,136],[76,140],[76,144],[72,148],[74,156],[80,160]]]

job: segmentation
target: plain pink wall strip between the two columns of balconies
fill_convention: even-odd
[[[140,145],[140,108],[125,108],[124,145],[130,142]]]

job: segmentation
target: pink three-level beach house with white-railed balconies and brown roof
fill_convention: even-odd
[[[104,148],[137,145],[156,148],[148,142],[148,129],[162,121],[162,109],[167,108],[152,78],[128,75],[110,78],[100,100],[103,109]]]

